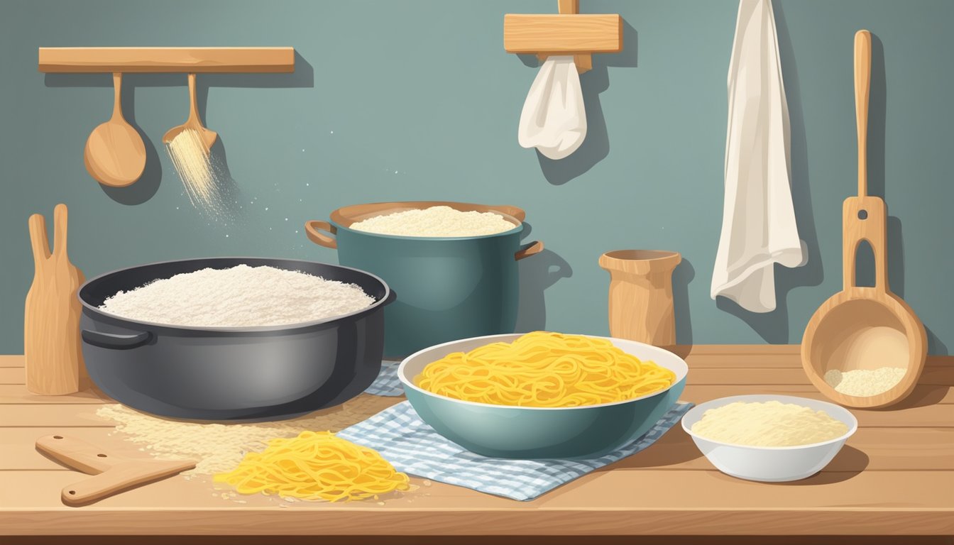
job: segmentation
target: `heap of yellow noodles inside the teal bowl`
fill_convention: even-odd
[[[534,331],[431,362],[415,384],[491,405],[580,407],[669,388],[675,373],[642,362],[606,339]]]

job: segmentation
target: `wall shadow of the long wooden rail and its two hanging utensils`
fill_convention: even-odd
[[[47,87],[113,87],[113,75],[111,73],[47,73],[44,77],[44,85]],[[196,101],[199,116],[205,122],[206,104],[209,98],[210,87],[241,87],[241,88],[301,88],[315,86],[315,70],[304,57],[295,52],[295,72],[293,73],[200,73],[196,78]],[[142,136],[142,141],[146,145],[146,168],[142,177],[134,184],[127,187],[107,187],[100,184],[110,199],[121,204],[135,205],[141,204],[156,195],[159,189],[159,182],[162,179],[162,168],[159,164],[159,156],[156,151],[156,145],[153,140],[147,136],[142,128],[135,122],[135,90],[137,87],[182,87],[183,104],[181,120],[170,119],[169,128],[181,124],[188,115],[188,91],[187,78],[185,73],[124,73],[122,90],[122,109],[123,116],[135,128],[135,131]],[[107,101],[110,100],[110,101]],[[112,100],[105,95],[103,103],[109,104]],[[105,108],[105,106],[104,106]],[[104,118],[101,122],[105,122]],[[215,128],[212,128],[215,130]],[[93,127],[90,127],[93,131]],[[157,136],[161,141],[162,136]],[[228,165],[225,162],[225,150],[222,144],[221,135],[218,136],[216,144],[212,148],[212,158],[214,165],[218,168],[220,174],[228,178],[226,184],[226,196],[234,196],[237,186],[235,180],[228,171]],[[163,146],[165,147],[165,146]],[[234,200],[234,199],[232,199]],[[231,200],[230,200],[231,201]]]

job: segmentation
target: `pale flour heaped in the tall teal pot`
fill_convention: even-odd
[[[401,237],[480,237],[496,235],[516,225],[492,212],[462,212],[449,206],[405,210],[351,224],[355,231]]]

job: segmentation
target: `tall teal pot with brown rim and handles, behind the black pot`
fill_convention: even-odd
[[[513,223],[481,237],[397,237],[350,229],[374,216],[429,206],[493,212]],[[378,202],[345,206],[331,221],[305,222],[308,238],[337,248],[338,262],[384,279],[397,296],[384,309],[384,355],[403,357],[447,341],[512,333],[517,321],[517,262],[543,250],[520,243],[526,214],[515,206],[466,202]]]

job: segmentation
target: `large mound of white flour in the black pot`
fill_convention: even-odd
[[[353,283],[240,264],[206,268],[120,291],[99,307],[140,322],[197,327],[301,324],[374,303]]]

